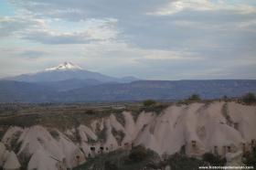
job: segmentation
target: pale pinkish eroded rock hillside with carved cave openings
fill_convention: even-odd
[[[144,145],[160,155],[184,153],[197,157],[213,153],[232,159],[256,144],[256,106],[234,101],[172,104],[158,112],[91,111],[83,114],[86,119],[78,114],[78,121],[66,128],[49,123],[54,119],[38,119],[39,115],[32,117],[37,122],[9,126],[0,144],[0,166],[5,165],[11,151],[23,168],[56,170],[81,165],[97,154],[120,148],[130,150],[136,145]],[[69,115],[63,113],[59,119],[64,123]],[[12,118],[0,118],[2,129],[8,119]],[[80,121],[83,119],[86,121]],[[67,120],[72,121],[70,117]]]

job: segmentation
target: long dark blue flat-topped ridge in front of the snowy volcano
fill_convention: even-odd
[[[50,84],[0,80],[1,102],[180,100],[192,93],[205,99],[216,99],[224,95],[239,97],[250,91],[256,92],[256,80],[139,80],[84,85],[66,91],[59,91],[58,84],[54,88]]]

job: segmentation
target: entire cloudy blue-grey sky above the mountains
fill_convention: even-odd
[[[0,0],[0,78],[64,61],[115,77],[256,79],[255,0]]]

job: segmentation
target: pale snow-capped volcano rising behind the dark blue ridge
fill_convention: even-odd
[[[44,69],[35,73],[28,73],[18,75],[16,77],[5,78],[5,80],[17,80],[25,82],[52,82],[52,81],[93,81],[93,84],[106,83],[106,82],[131,82],[137,80],[133,77],[115,78],[108,75],[101,74],[99,72],[93,72],[91,70],[86,70],[80,68],[80,66],[73,64],[71,62],[64,62],[56,67]],[[70,85],[71,86],[71,85]]]

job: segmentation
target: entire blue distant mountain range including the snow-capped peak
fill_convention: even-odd
[[[256,80],[138,80],[114,78],[70,62],[0,80],[0,102],[83,102],[205,99],[256,92]]]

